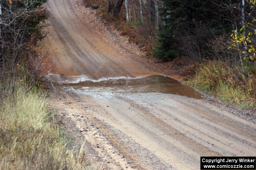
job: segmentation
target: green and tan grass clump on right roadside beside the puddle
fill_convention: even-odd
[[[197,70],[195,78],[188,83],[220,97],[223,101],[234,102],[247,108],[255,107],[256,77],[249,71],[245,76],[236,70],[239,69],[232,69],[223,62],[208,61]]]

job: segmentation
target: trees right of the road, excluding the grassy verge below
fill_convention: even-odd
[[[106,19],[113,13],[116,17],[112,18],[113,20],[125,20],[130,25],[135,25],[136,36],[143,37],[144,32],[147,37],[143,38],[151,39],[150,36],[153,35],[157,41],[152,40],[150,44],[153,49],[152,54],[161,60],[185,55],[196,60],[212,59],[218,55],[212,55],[214,45],[219,43],[214,43],[215,41],[225,38],[223,41],[229,46],[233,40],[233,36],[230,38],[233,32],[243,36],[248,36],[251,32],[249,36],[254,36],[254,1],[95,0],[85,3],[87,5],[96,3],[100,8],[104,8],[103,5],[108,3],[108,9],[105,11],[101,9],[102,13],[106,11],[109,13],[105,16]],[[252,39],[253,37],[251,41]],[[253,42],[249,43],[253,45]],[[246,48],[242,44],[244,43],[240,43],[237,47],[238,51]],[[233,48],[226,49],[226,52],[232,51],[231,49]],[[240,54],[237,55],[240,59]]]

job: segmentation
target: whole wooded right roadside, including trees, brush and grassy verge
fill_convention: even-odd
[[[146,56],[176,57],[189,83],[227,101],[254,106],[255,1],[84,0]],[[108,4],[108,5],[106,5]],[[186,75],[183,75],[186,76]],[[225,91],[223,91],[225,89]],[[217,92],[217,93],[216,93]]]

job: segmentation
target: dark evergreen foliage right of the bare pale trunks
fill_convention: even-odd
[[[208,57],[207,49],[217,36],[229,33],[239,22],[241,11],[234,10],[238,0],[162,0],[163,8],[158,42],[153,50],[159,59],[177,55]]]

